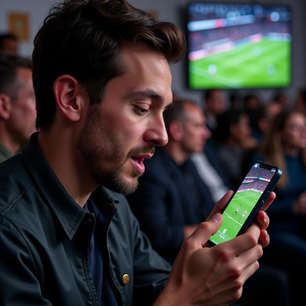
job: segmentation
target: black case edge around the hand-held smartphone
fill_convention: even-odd
[[[273,191],[274,187],[276,186],[278,180],[280,179],[280,177],[282,176],[282,170],[274,165],[268,164],[266,162],[261,162],[261,161],[256,161],[253,162],[252,166],[250,167],[250,169],[248,170],[248,172],[245,174],[245,176],[243,177],[242,181],[240,182],[240,184],[238,185],[237,189],[235,190],[233,196],[230,198],[229,202],[225,205],[224,209],[222,210],[222,213],[225,211],[226,207],[228,206],[228,204],[230,203],[230,201],[233,199],[234,195],[236,194],[236,192],[238,191],[239,187],[241,186],[244,178],[246,177],[246,175],[250,172],[250,170],[252,169],[254,164],[260,164],[263,166],[267,166],[267,167],[271,167],[276,169],[275,171],[275,175],[274,177],[271,179],[270,183],[268,184],[266,190],[263,192],[263,194],[260,196],[259,200],[257,201],[255,207],[252,209],[248,219],[244,222],[244,225],[241,227],[240,231],[238,232],[237,236],[245,233],[245,231],[252,225],[252,223],[254,222],[254,219],[256,218],[257,214],[259,213],[259,211],[262,209],[263,205],[266,203],[271,191]],[[261,167],[264,168],[264,167]],[[264,168],[265,169],[265,168]],[[237,237],[236,236],[236,237]],[[208,240],[208,242],[211,245],[216,245],[215,243],[213,243],[212,241]]]

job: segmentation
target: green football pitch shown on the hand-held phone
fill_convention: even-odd
[[[219,244],[236,237],[261,195],[253,190],[237,192],[222,214],[223,222],[219,230],[209,240]],[[246,214],[241,218],[245,210]]]

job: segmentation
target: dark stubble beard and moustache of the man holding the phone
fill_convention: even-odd
[[[114,192],[128,195],[138,187],[138,178],[141,173],[134,170],[133,179],[125,178],[124,170],[131,156],[151,153],[154,154],[154,147],[145,146],[133,148],[124,162],[116,168],[107,166],[116,159],[121,159],[124,144],[120,142],[117,133],[103,125],[97,105],[89,107],[84,128],[80,132],[76,143],[77,159],[74,161],[76,173],[84,180],[92,180],[97,185],[102,185]]]

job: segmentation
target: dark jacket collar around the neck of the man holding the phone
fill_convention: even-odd
[[[73,200],[58,180],[39,150],[37,136],[38,132],[32,134],[28,144],[22,150],[22,159],[61,223],[67,238],[71,240],[87,212]],[[95,203],[99,204],[99,208],[106,216],[114,212],[113,203],[119,203],[113,193],[104,187],[98,187],[92,193],[92,197],[95,198]],[[101,202],[103,202],[103,207]]]

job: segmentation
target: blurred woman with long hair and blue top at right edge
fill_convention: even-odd
[[[283,171],[276,187],[277,199],[269,213],[273,215],[272,225],[277,225],[278,230],[284,229],[289,221],[296,222],[306,215],[305,115],[288,110],[278,114],[261,152],[266,162],[279,166]],[[293,225],[292,230],[296,231],[297,224]]]

